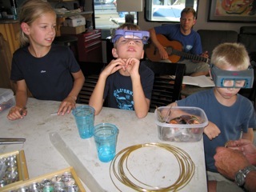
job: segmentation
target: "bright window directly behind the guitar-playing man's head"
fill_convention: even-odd
[[[179,22],[186,6],[197,10],[198,0],[146,0],[146,20],[150,22]]]

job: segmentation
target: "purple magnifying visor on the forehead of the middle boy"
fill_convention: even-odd
[[[121,37],[126,39],[140,39],[143,44],[146,44],[147,40],[150,38],[150,32],[145,30],[115,30],[112,42],[118,41]]]

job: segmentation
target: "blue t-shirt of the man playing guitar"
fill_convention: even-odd
[[[190,34],[184,35],[180,30],[180,24],[156,26],[154,27],[154,30],[156,34],[163,34],[170,41],[181,42],[183,46],[183,52],[195,55],[202,54],[201,38],[196,31],[191,30]]]

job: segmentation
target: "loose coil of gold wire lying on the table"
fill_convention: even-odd
[[[150,146],[160,147],[164,150],[167,150],[170,153],[174,154],[174,157],[177,159],[178,165],[179,165],[179,176],[176,182],[174,182],[172,185],[166,186],[166,187],[150,186],[150,185],[147,185],[146,183],[140,182],[130,172],[127,165],[130,154],[133,153],[135,150],[138,150],[143,147],[150,147]],[[119,161],[118,161],[118,158],[119,158]],[[116,167],[118,167],[118,170]],[[132,182],[128,178],[125,168],[132,178],[134,178],[137,182],[139,182],[144,186],[138,186],[138,184],[135,184],[134,182]],[[130,188],[137,191],[144,191],[144,192],[177,191],[177,190],[181,190],[184,186],[187,185],[188,182],[190,182],[191,178],[194,175],[194,169],[195,169],[194,162],[190,158],[190,155],[186,153],[186,151],[178,148],[177,146],[171,146],[165,143],[151,142],[151,143],[139,144],[135,146],[129,146],[126,149],[121,150],[118,154],[116,154],[116,156],[110,163],[110,178],[114,183],[114,186],[116,186],[119,191],[122,191],[122,190],[120,190],[117,184],[114,182],[114,178],[112,177],[111,173],[114,174],[113,176],[115,176],[115,178],[117,178],[119,182],[122,182],[122,184],[129,186]]]

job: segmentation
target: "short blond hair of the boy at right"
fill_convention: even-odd
[[[238,70],[246,70],[250,66],[250,58],[241,43],[226,42],[214,48],[211,63],[220,69],[222,66],[234,66]]]

